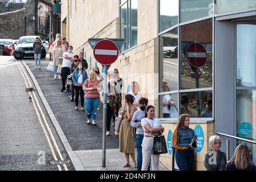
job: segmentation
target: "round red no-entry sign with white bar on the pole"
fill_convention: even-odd
[[[119,48],[112,40],[100,40],[94,47],[94,57],[100,64],[113,64],[118,56]]]

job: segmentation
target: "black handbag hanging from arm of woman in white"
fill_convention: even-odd
[[[154,137],[154,144],[153,144],[153,154],[166,154],[168,153],[166,141],[164,135],[159,137]]]

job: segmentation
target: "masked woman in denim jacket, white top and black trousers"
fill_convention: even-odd
[[[78,64],[78,68],[73,73],[72,79],[74,81],[75,85],[75,101],[76,101],[76,107],[75,110],[78,110],[78,102],[79,102],[79,95],[81,100],[81,107],[82,111],[84,111],[84,91],[83,91],[83,84],[88,79],[87,73],[83,70],[83,63]]]

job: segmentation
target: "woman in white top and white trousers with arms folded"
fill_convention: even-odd
[[[147,106],[146,109],[147,118],[141,119],[141,126],[144,129],[144,138],[141,144],[142,146],[142,156],[143,156],[143,163],[141,171],[147,171],[148,166],[151,161],[152,155],[152,164],[153,164],[153,171],[159,170],[159,158],[160,155],[155,155],[152,153],[154,137],[157,135],[162,135],[164,132],[164,127],[162,127],[162,123],[159,119],[154,118],[155,115],[155,107],[154,106]]]

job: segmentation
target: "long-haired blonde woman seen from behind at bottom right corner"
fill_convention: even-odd
[[[246,144],[241,143],[235,148],[234,155],[227,163],[225,171],[256,171]]]

